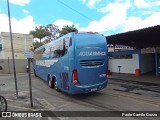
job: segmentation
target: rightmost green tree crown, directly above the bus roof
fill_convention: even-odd
[[[63,26],[63,28],[62,28],[62,30],[60,30],[60,35],[59,35],[59,37],[61,37],[61,36],[63,36],[63,35],[65,35],[65,34],[67,34],[67,33],[70,33],[70,32],[76,32],[77,31],[77,28],[74,26],[74,25],[72,25],[72,26]]]

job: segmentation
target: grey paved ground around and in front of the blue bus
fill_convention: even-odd
[[[33,92],[33,108],[30,105],[29,80],[28,74],[17,74],[18,81],[18,98],[15,95],[15,84],[13,75],[0,75],[0,83],[4,84],[1,87],[1,95],[4,95],[8,102],[9,111],[128,111],[128,110],[160,110],[160,94],[154,90],[159,90],[157,81],[160,79],[154,78],[156,82],[147,82],[147,79],[141,79],[140,84],[136,82],[136,76],[128,75],[124,77],[117,74],[109,76],[108,87],[98,93],[70,96],[62,92],[56,92],[50,89],[47,82],[32,75],[32,92]],[[146,80],[146,82],[144,82]],[[149,80],[149,79],[148,79]],[[150,79],[151,81],[153,79]],[[129,81],[129,82],[128,82]],[[131,81],[131,82],[130,82]],[[135,83],[136,82],[136,83]],[[144,85],[142,84],[144,83]],[[153,87],[154,85],[154,87]],[[137,88],[138,86],[138,88]],[[156,87],[155,87],[156,86]],[[158,87],[157,87],[158,86]],[[140,88],[149,88],[146,89]],[[151,89],[152,88],[152,89]],[[125,107],[124,107],[125,106]],[[28,119],[28,118],[26,118]],[[46,118],[36,118],[46,119]],[[53,119],[53,118],[47,118]],[[75,119],[61,118],[54,119]],[[84,119],[84,118],[80,118]],[[106,118],[85,118],[85,119],[104,119]],[[112,120],[113,118],[107,118]],[[128,120],[127,118],[114,118],[114,120]],[[139,118],[138,118],[139,119]],[[137,120],[130,118],[129,120]],[[145,120],[145,119],[144,119]],[[147,120],[152,120],[147,119]],[[156,120],[156,119],[155,119]]]

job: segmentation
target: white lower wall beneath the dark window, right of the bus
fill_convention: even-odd
[[[109,59],[109,70],[119,72],[118,66],[121,67],[121,73],[135,74],[135,69],[139,69],[138,54],[133,54],[132,59]]]

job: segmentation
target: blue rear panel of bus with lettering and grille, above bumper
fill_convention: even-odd
[[[105,80],[106,39],[99,34],[77,34],[75,68],[80,85],[94,85]]]

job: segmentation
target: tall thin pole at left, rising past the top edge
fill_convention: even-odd
[[[13,60],[13,72],[14,72],[14,79],[15,79],[15,89],[16,89],[16,97],[18,97],[17,76],[16,76],[15,61],[14,61],[14,49],[13,49],[9,0],[7,0],[7,7],[8,7],[8,20],[9,20],[10,40],[11,40],[11,49],[12,49],[12,60]]]

